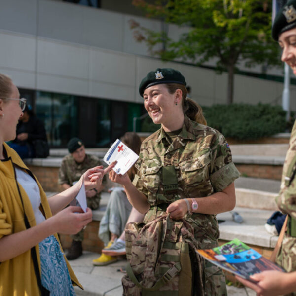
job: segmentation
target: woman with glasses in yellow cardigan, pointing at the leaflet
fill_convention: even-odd
[[[77,195],[102,183],[103,170],[87,170],[69,189],[47,199],[36,177],[5,141],[16,136],[25,99],[0,74],[0,295],[72,296],[79,284],[63,254],[57,232],[74,234],[92,221],[89,208],[64,209]],[[82,287],[81,287],[82,288]]]

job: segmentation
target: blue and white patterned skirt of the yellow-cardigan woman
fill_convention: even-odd
[[[54,235],[39,243],[41,282],[50,296],[75,296],[67,264]]]

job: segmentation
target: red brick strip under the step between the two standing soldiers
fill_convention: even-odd
[[[235,164],[243,177],[281,180],[282,165]]]

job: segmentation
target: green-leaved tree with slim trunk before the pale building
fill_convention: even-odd
[[[234,74],[239,64],[279,65],[279,46],[271,38],[268,0],[133,0],[148,17],[186,27],[178,40],[166,30],[151,31],[131,21],[138,41],[163,60],[180,58],[196,65],[213,59],[228,72],[227,103],[233,102]],[[159,46],[162,45],[162,46]],[[159,49],[161,47],[161,49]]]

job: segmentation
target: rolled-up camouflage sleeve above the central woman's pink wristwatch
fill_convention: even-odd
[[[220,192],[239,177],[229,145],[222,134],[213,141],[210,180],[215,192]]]

